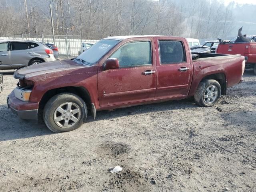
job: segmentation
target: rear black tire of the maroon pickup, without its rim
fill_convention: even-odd
[[[208,91],[206,92],[206,90],[208,88],[214,88],[215,94],[213,95],[213,93],[211,93],[211,95],[214,97],[214,99],[210,98],[211,97],[210,94],[207,94]],[[216,91],[218,91],[218,92],[216,93]],[[194,99],[196,101],[196,104],[198,104],[199,106],[212,107],[218,102],[220,95],[221,95],[221,86],[220,86],[219,82],[216,80],[213,80],[213,79],[206,79],[199,83],[198,88],[196,89],[196,92],[194,94]],[[204,98],[204,96],[209,96],[209,98],[210,98],[210,100],[212,100],[212,102],[210,102],[210,100],[209,100],[209,103],[206,103],[205,99],[207,100],[209,98],[208,97]]]

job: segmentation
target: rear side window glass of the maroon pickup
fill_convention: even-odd
[[[181,41],[159,41],[161,64],[185,62],[185,53]]]

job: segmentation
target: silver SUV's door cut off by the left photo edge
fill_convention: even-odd
[[[0,43],[0,69],[11,69],[8,42]]]

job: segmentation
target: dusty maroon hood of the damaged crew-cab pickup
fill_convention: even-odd
[[[34,64],[24,68],[20,68],[14,72],[14,78],[27,79],[32,81],[40,81],[54,76],[62,76],[65,74],[76,73],[81,68],[88,68],[82,64],[68,59],[62,61],[52,61],[40,64]]]

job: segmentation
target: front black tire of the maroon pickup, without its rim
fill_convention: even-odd
[[[77,117],[78,121],[74,123],[74,125],[72,125],[72,119],[70,119],[72,126],[63,128],[54,121],[54,116],[56,115],[57,108],[62,104],[65,104],[68,102],[78,106],[78,108],[80,109],[80,116]],[[68,115],[68,114],[65,114],[65,115]],[[60,116],[62,116],[62,114]],[[68,131],[72,131],[79,128],[83,124],[83,122],[85,122],[87,118],[87,107],[84,100],[82,100],[82,98],[80,98],[79,96],[72,93],[61,93],[53,96],[46,103],[44,107],[43,117],[44,117],[44,123],[52,132],[55,132],[55,133],[68,132]],[[68,122],[70,122],[70,120],[68,120]],[[63,119],[63,121],[65,121],[65,119]]]

